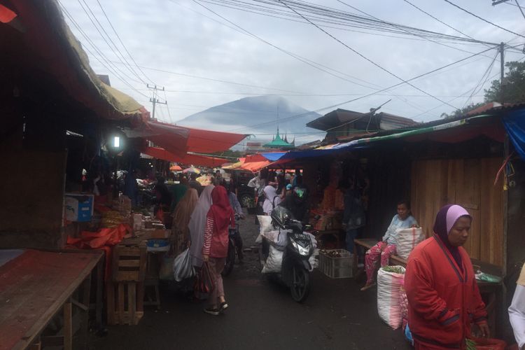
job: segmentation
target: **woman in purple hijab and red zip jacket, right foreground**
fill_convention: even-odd
[[[405,274],[408,320],[416,349],[465,349],[476,323],[489,337],[485,304],[462,247],[472,217],[458,205],[437,213],[434,235],[410,253]]]

